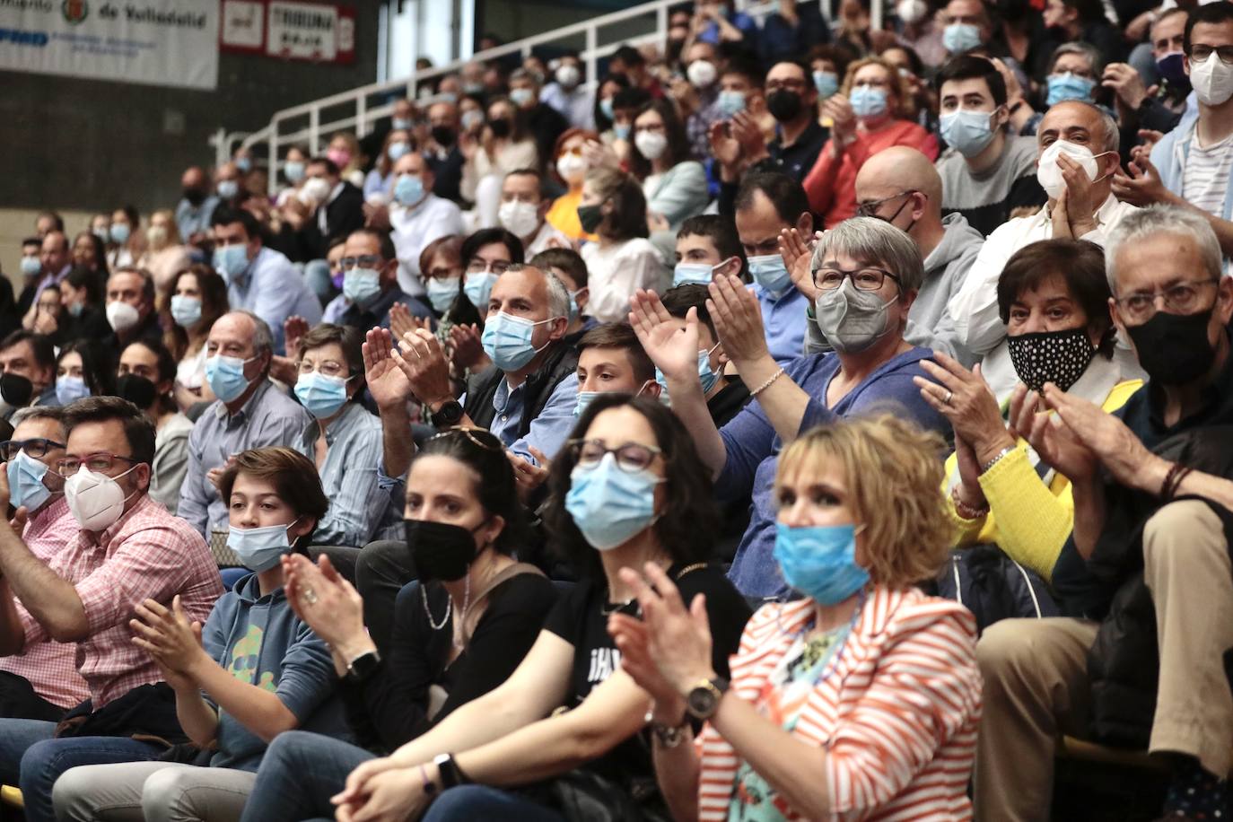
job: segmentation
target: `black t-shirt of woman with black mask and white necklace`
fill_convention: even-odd
[[[404,585],[395,604],[388,658],[359,685],[343,680],[348,721],[361,744],[395,751],[454,709],[506,682],[535,645],[555,601],[556,588],[545,577],[525,573],[506,579],[488,594],[467,647],[450,662],[454,622],[449,595],[440,584],[428,585],[433,621],[445,619],[440,630],[433,630],[419,583]],[[449,696],[429,720],[432,685],[440,685]]]

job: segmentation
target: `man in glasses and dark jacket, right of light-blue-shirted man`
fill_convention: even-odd
[[[388,232],[361,228],[346,238],[343,245],[343,293],[326,306],[324,315],[334,318],[338,325],[350,325],[363,332],[370,328],[390,328],[390,308],[402,303],[414,317],[432,319],[419,299],[398,285],[398,258]],[[295,356],[295,351],[289,351]]]

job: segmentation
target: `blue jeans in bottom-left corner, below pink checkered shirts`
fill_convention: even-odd
[[[54,722],[0,720],[0,781],[21,787],[28,822],[54,822],[52,785],[69,768],[148,762],[163,748],[128,737],[53,738]]]

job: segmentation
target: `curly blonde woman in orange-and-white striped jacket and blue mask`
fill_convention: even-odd
[[[942,440],[891,415],[816,428],[779,458],[774,555],[801,593],[745,627],[731,683],[703,603],[630,569],[621,665],[655,699],[677,820],[968,820],[980,675],[963,606],[915,583],[947,557]],[[693,736],[702,725],[698,744]]]

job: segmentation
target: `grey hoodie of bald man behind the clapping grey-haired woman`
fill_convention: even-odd
[[[942,351],[963,365],[972,367],[977,357],[958,341],[958,333],[946,306],[958,293],[968,270],[984,244],[984,235],[968,224],[963,214],[954,212],[942,218],[944,233],[937,248],[925,259],[925,281],[916,302],[907,312],[904,339],[935,351]],[[824,354],[832,350],[817,328],[814,307],[808,309],[805,323],[805,354]]]

